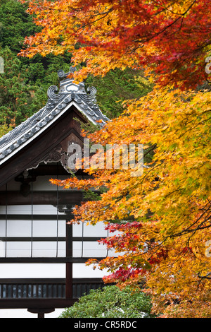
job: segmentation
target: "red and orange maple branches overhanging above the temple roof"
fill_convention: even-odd
[[[72,53],[86,62],[75,76],[105,75],[115,68],[146,69],[162,84],[196,87],[206,78],[209,0],[20,0],[41,32],[26,37],[22,55]],[[200,75],[199,75],[200,73]]]

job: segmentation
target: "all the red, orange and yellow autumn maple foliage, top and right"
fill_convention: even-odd
[[[43,30],[26,38],[22,55],[68,50],[86,62],[76,80],[129,66],[155,84],[89,135],[103,146],[143,144],[141,176],[101,167],[87,170],[93,179],[52,180],[103,189],[75,208],[74,222],[103,221],[113,232],[102,242],[119,256],[97,263],[110,271],[106,282],[142,285],[163,316],[211,317],[210,1],[27,2]]]

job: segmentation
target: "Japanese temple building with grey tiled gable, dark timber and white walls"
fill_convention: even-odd
[[[103,275],[85,262],[109,255],[97,242],[108,236],[103,224],[67,223],[83,191],[49,182],[71,172],[88,177],[70,170],[70,145],[83,148],[81,122],[108,121],[96,89],[86,91],[68,74],[58,71],[60,88],[49,88],[46,105],[0,138],[0,309],[25,308],[39,318],[101,287]]]

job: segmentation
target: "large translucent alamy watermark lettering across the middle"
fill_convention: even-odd
[[[130,170],[132,177],[143,174],[143,144],[93,144],[84,138],[84,148],[77,143],[68,146],[68,167],[92,170]]]

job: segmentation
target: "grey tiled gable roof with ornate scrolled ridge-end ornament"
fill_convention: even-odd
[[[72,70],[74,69],[71,67],[70,71]],[[58,90],[56,85],[52,85],[47,93],[49,99],[46,105],[0,138],[0,165],[39,136],[72,105],[75,105],[94,124],[103,126],[106,121],[109,121],[96,104],[96,89],[87,88],[86,92],[84,83],[73,83],[73,80],[68,78],[68,74],[61,70],[58,71],[58,77],[62,80],[60,81],[60,89]]]

